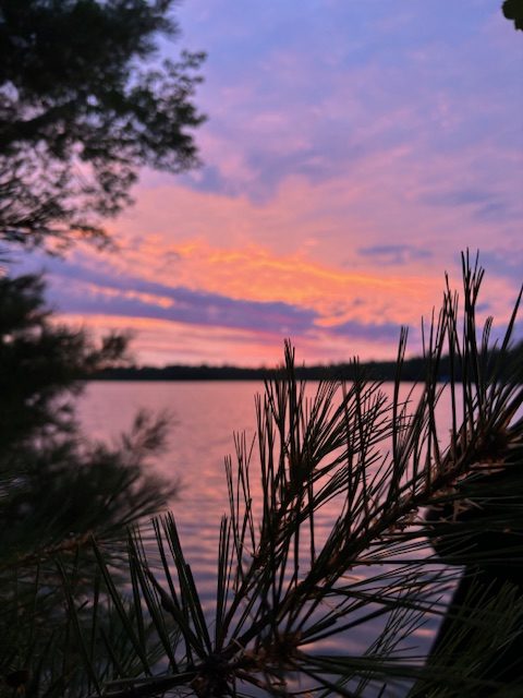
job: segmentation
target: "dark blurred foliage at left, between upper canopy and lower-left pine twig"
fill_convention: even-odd
[[[37,276],[0,278],[0,599],[9,553],[31,554],[71,533],[121,530],[175,489],[146,467],[161,446],[165,417],[138,413],[117,448],[83,436],[71,401],[77,381],[125,362],[125,338],[95,342],[58,325],[44,292]]]

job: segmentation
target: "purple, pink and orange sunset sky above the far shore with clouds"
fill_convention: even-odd
[[[203,167],[144,171],[117,252],[33,254],[60,321],[131,330],[138,364],[391,359],[460,253],[481,316],[523,281],[523,33],[500,0],[185,0],[205,50]],[[520,335],[523,333],[520,332]]]

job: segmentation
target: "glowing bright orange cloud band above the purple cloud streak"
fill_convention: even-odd
[[[419,309],[429,310],[439,300],[439,278],[412,270],[405,276],[387,275],[376,267],[353,272],[311,257],[304,252],[277,255],[254,243],[218,248],[197,239],[171,244],[166,252],[147,237],[125,251],[123,262],[114,262],[122,274],[165,286],[307,308],[321,316],[324,326],[346,320],[411,322],[417,320]]]

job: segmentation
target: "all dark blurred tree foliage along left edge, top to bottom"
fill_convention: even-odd
[[[159,63],[174,0],[0,0],[0,241],[107,242],[138,168],[197,165],[191,130],[202,55]],[[52,241],[52,242],[51,242]],[[49,249],[48,246],[48,249]],[[94,342],[53,322],[35,276],[0,269],[0,696],[85,695],[65,599],[96,600],[93,537],[121,569],[125,527],[177,483],[148,470],[167,419],[138,413],[120,445],[86,438],[78,378],[119,365],[126,339]],[[66,593],[63,587],[66,580]],[[120,577],[117,579],[119,583]],[[99,641],[129,642],[105,604]]]

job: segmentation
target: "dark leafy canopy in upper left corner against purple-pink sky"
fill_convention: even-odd
[[[197,165],[202,53],[157,60],[174,0],[0,0],[0,239],[105,240],[143,166]]]

